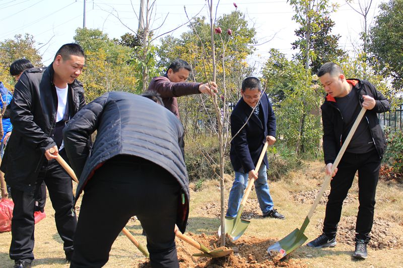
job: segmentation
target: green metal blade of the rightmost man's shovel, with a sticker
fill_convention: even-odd
[[[267,252],[271,256],[280,256],[283,258],[296,248],[300,247],[308,239],[298,228],[292,231],[283,239],[267,248]]]

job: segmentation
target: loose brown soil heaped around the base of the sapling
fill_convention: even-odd
[[[214,249],[220,243],[220,239],[215,235],[193,234],[187,233],[197,242]],[[257,268],[257,267],[306,267],[306,265],[297,259],[288,259],[287,256],[283,260],[272,258],[267,253],[267,247],[276,242],[271,238],[256,238],[243,235],[238,240],[232,242],[226,238],[226,246],[232,248],[234,253],[221,258],[209,257],[193,257],[193,253],[200,252],[196,248],[186,242],[176,238],[176,248],[178,252],[179,267],[197,267],[197,268],[218,268],[218,267],[233,267],[233,268]],[[148,260],[140,263],[139,267],[151,267]]]

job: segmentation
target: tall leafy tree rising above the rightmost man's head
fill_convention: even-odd
[[[346,53],[338,48],[340,35],[331,35],[334,22],[329,15],[337,9],[328,0],[290,0],[294,7],[293,20],[301,25],[295,30],[299,38],[292,43],[293,49],[300,52],[296,59],[304,63],[305,68],[311,67],[316,73],[320,66],[328,61],[342,58]]]

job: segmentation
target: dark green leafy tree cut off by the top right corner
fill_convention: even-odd
[[[382,3],[370,29],[368,51],[379,72],[392,77],[396,90],[403,90],[403,0]]]

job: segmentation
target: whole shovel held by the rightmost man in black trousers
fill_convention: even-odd
[[[346,148],[349,145],[351,138],[353,137],[353,135],[358,127],[358,124],[361,122],[361,119],[363,118],[366,110],[367,109],[365,109],[363,107],[361,109],[361,112],[358,114],[356,121],[354,122],[353,126],[351,127],[349,135],[347,136],[342,148],[340,149],[336,159],[334,160],[334,163],[330,170],[330,175],[326,175],[324,177],[322,187],[320,188],[319,193],[317,194],[315,201],[312,204],[311,210],[309,211],[304,222],[302,223],[301,229],[296,228],[294,231],[292,231],[286,237],[279,240],[275,244],[269,246],[267,248],[267,252],[270,255],[276,255],[276,256],[280,256],[281,258],[283,258],[285,255],[289,254],[291,251],[300,247],[308,239],[308,237],[305,236],[304,231],[305,231],[306,227],[308,226],[309,221],[313,215],[313,212],[315,211],[317,205],[319,204],[319,201],[322,198],[324,191],[326,190],[328,184],[330,183],[331,174],[333,174],[334,169],[337,168],[337,166],[339,165],[339,162],[342,159],[343,154],[346,151]]]

